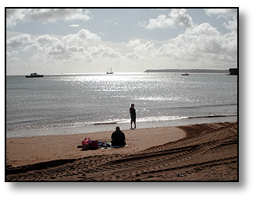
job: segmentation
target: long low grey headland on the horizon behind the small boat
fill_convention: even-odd
[[[147,69],[144,72],[175,72],[175,73],[229,73],[230,69],[220,70],[220,69],[199,69],[199,68],[192,68],[192,69]]]

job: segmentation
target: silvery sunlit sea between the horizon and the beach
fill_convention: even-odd
[[[6,138],[237,121],[237,75],[114,73],[5,76]]]

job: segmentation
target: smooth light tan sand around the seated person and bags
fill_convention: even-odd
[[[113,128],[114,129],[114,128]],[[136,153],[152,146],[163,145],[186,136],[180,128],[143,128],[123,131],[128,146],[122,149],[98,149],[80,151],[77,146],[87,137],[91,140],[108,142],[112,132],[95,132],[73,135],[36,136],[28,138],[6,139],[6,156],[12,167],[41,163],[60,159],[78,159],[113,153]]]

